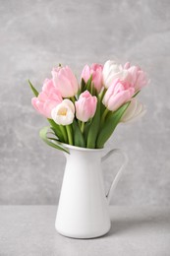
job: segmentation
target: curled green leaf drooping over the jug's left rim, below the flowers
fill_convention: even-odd
[[[50,127],[45,126],[43,127],[40,131],[39,131],[39,136],[40,138],[50,147],[60,150],[60,151],[64,151],[68,154],[70,154],[64,147],[62,147],[62,145],[60,144],[59,141],[57,141],[54,138],[48,138],[47,134],[48,134],[48,130]],[[55,141],[55,143],[53,143],[51,140]]]

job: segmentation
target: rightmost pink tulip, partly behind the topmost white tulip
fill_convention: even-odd
[[[126,81],[135,88],[135,92],[141,91],[142,87],[147,85],[148,79],[140,67],[131,66],[131,64],[127,62],[124,69],[128,71]]]

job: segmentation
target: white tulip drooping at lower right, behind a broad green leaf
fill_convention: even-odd
[[[130,105],[123,114],[121,122],[130,123],[140,119],[146,112],[145,106],[136,97],[132,98]]]

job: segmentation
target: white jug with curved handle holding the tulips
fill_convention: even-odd
[[[103,149],[85,149],[65,145],[66,168],[56,217],[59,233],[74,238],[92,238],[107,233],[111,222],[109,201],[128,161],[122,151],[111,150],[104,157]],[[101,161],[112,154],[121,153],[124,163],[120,167],[110,190],[105,195]]]

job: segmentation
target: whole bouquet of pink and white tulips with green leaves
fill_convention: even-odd
[[[68,66],[53,68],[40,93],[29,82],[35,96],[31,103],[50,124],[40,130],[40,137],[65,152],[64,144],[103,148],[119,123],[144,114],[137,95],[147,82],[142,69],[129,62],[85,65],[80,84]]]

